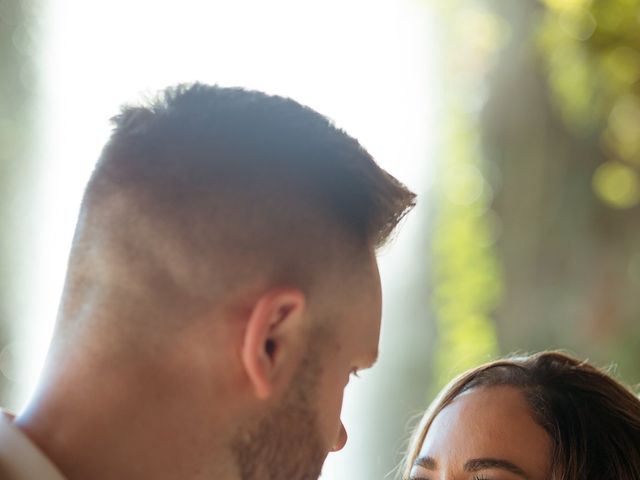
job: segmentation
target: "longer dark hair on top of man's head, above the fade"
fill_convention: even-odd
[[[179,85],[149,105],[125,107],[113,121],[95,181],[113,174],[181,193],[230,183],[239,195],[250,195],[250,186],[271,196],[277,192],[269,189],[290,190],[323,204],[373,245],[387,239],[414,202],[355,139],[289,98]]]

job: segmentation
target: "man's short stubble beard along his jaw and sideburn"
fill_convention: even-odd
[[[315,348],[301,362],[292,389],[267,417],[233,444],[241,480],[317,480],[327,450],[313,405],[320,378]]]

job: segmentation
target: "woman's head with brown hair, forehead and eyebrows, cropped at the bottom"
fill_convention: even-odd
[[[414,434],[405,478],[435,480],[444,471],[491,480],[640,479],[640,400],[562,353],[491,362],[453,380]]]

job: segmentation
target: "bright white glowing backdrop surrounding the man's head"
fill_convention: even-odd
[[[178,82],[240,85],[290,96],[332,118],[419,193],[434,155],[433,18],[418,0],[54,0],[43,17],[39,223],[20,282],[37,299],[15,312],[15,404],[37,379],[62,287],[84,183],[119,105]],[[348,387],[350,441],[326,480],[365,478],[384,415],[375,397],[401,353],[403,289],[424,249],[426,206],[381,255],[385,295],[379,365]],[[421,247],[422,245],[422,247]],[[426,296],[426,292],[425,292]],[[366,470],[366,469],[365,469]]]

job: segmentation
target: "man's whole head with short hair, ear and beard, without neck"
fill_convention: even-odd
[[[193,436],[227,439],[243,478],[317,477],[346,440],[348,377],[377,353],[375,250],[414,195],[290,99],[179,86],[114,123],[52,352],[183,381]]]

